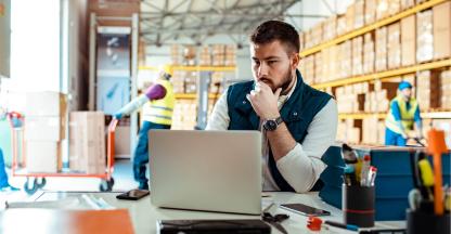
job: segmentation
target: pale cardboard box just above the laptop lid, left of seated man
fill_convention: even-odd
[[[177,100],[171,129],[193,130],[196,125],[196,113],[195,100]]]

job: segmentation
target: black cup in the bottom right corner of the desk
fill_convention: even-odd
[[[418,210],[407,210],[405,217],[408,219],[408,234],[420,233],[450,233],[450,213],[436,216],[430,212],[422,212]]]

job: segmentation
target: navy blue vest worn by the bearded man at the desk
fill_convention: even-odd
[[[313,117],[332,96],[306,84],[298,70],[296,70],[296,75],[295,91],[283,105],[281,116],[296,142],[302,143]],[[258,130],[260,118],[246,99],[246,94],[253,89],[254,81],[235,83],[229,88],[227,93],[230,116],[229,130]],[[268,165],[281,191],[295,192],[278,170],[272,152],[270,152]]]

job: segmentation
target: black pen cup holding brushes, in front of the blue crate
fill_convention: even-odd
[[[342,185],[342,209],[346,224],[374,226],[374,186]]]

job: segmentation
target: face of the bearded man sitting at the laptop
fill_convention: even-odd
[[[288,54],[286,48],[275,40],[265,44],[250,43],[250,56],[255,81],[267,83],[272,92],[282,88],[284,93],[299,62],[297,53]]]

